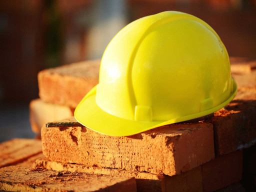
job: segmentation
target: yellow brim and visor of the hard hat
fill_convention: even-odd
[[[228,104],[236,95],[237,85],[233,79],[232,80],[232,92],[230,97],[226,99],[221,104],[210,108],[205,111],[198,113],[180,116],[170,120],[163,121],[136,121],[120,118],[114,115],[111,115],[104,110],[102,110],[96,103],[96,86],[89,91],[84,98],[80,101],[74,111],[75,119],[82,125],[99,132],[101,134],[106,134],[110,136],[129,136],[136,133],[140,133],[158,126],[172,124],[176,122],[181,122],[185,120],[190,120],[205,116],[207,114],[213,113],[220,108]]]

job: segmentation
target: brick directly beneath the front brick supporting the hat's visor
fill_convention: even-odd
[[[47,158],[35,160],[34,168],[47,168],[56,171],[86,172],[132,176],[136,179],[137,191],[202,191],[201,166],[183,172],[180,175],[156,175],[148,172],[127,171],[116,168],[86,166],[84,164],[62,163]]]

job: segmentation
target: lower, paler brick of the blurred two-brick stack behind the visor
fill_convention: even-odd
[[[30,101],[29,116],[31,128],[40,133],[41,127],[46,122],[53,122],[73,116],[74,108],[65,105],[44,102],[37,98]]]

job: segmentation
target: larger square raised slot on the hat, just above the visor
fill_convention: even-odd
[[[152,121],[152,108],[146,105],[135,106],[135,120]]]

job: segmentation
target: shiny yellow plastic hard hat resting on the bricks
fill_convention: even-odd
[[[201,19],[165,11],[137,19],[109,42],[99,83],[77,105],[77,121],[127,136],[210,114],[237,85],[226,48]]]

